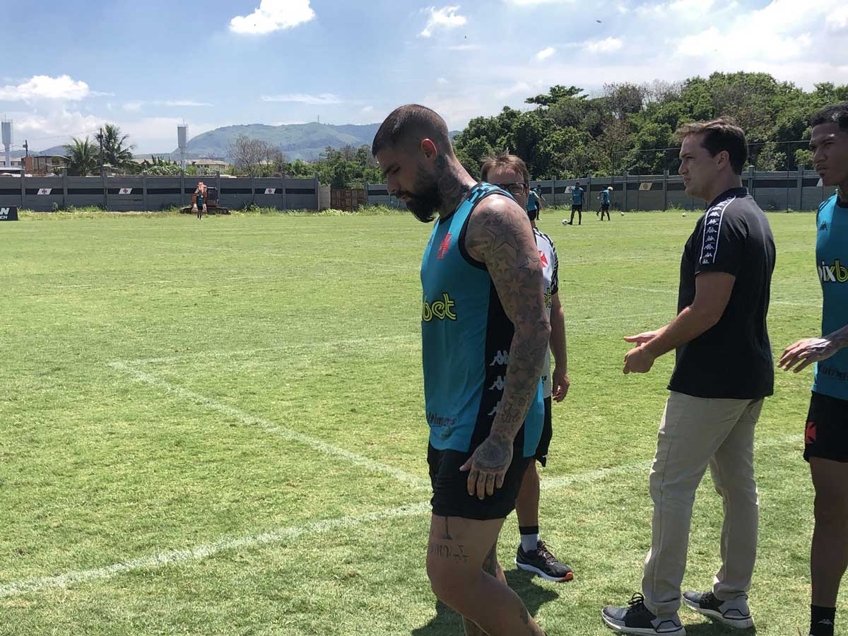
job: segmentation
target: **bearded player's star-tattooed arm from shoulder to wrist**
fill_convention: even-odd
[[[497,469],[508,458],[542,375],[550,339],[544,304],[544,279],[533,229],[515,203],[490,197],[471,217],[466,247],[485,263],[500,303],[515,327],[506,365],[506,382],[486,452],[477,455],[483,469]],[[476,217],[476,218],[475,218]]]

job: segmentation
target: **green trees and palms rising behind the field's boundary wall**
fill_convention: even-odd
[[[471,175],[483,160],[500,150],[522,157],[534,179],[661,174],[678,169],[674,131],[683,123],[733,117],[745,129],[750,165],[757,170],[812,167],[807,148],[812,114],[832,103],[848,101],[848,85],[830,82],[805,91],[767,73],[713,73],[685,81],[605,84],[592,96],[578,86],[551,86],[525,100],[529,108],[504,109],[476,117],[454,139],[457,157]],[[109,124],[93,141],[72,138],[65,146],[69,173],[97,174],[103,164],[148,175],[181,173],[173,161],[131,161],[129,137]],[[326,148],[315,161],[289,161],[282,149],[259,139],[238,137],[229,148],[234,175],[311,178],[332,187],[362,187],[382,181],[371,148]],[[191,170],[187,170],[187,174]]]

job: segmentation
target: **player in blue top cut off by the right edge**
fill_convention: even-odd
[[[812,118],[812,163],[839,190],[818,208],[816,265],[822,336],[789,346],[778,361],[795,373],[816,363],[804,459],[816,490],[811,636],[833,636],[836,596],[848,567],[848,102]]]

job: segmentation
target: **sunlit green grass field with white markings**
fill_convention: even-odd
[[[550,634],[607,634],[639,589],[648,468],[672,356],[622,376],[622,336],[674,314],[697,215],[580,227],[560,254],[572,389],[554,409],[543,537],[573,583],[516,572]],[[819,332],[809,214],[770,215],[775,353]],[[429,489],[407,215],[24,215],[0,224],[0,634],[460,634],[423,561]],[[804,631],[812,374],[757,429],[761,634]],[[717,568],[705,478],[687,589]],[[842,626],[848,619],[840,597]],[[690,634],[725,633],[688,610]]]

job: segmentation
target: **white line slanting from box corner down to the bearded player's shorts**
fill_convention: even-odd
[[[343,460],[348,460],[355,466],[362,466],[369,471],[381,472],[385,475],[389,475],[390,477],[394,477],[400,483],[404,483],[412,488],[430,488],[430,481],[428,479],[417,477],[416,475],[410,475],[409,473],[394,468],[393,466],[387,466],[363,455],[357,455],[356,453],[351,453],[349,450],[340,449],[336,446],[332,446],[332,444],[326,444],[326,442],[322,442],[320,439],[310,438],[303,433],[282,427],[271,420],[266,420],[264,417],[251,416],[243,410],[238,410],[228,404],[222,404],[214,399],[205,398],[199,393],[189,391],[187,388],[178,387],[176,384],[165,382],[165,380],[153,376],[151,373],[134,369],[131,365],[126,364],[126,362],[110,362],[109,366],[115,371],[125,373],[138,382],[146,382],[154,387],[164,388],[169,393],[174,393],[183,399],[194,402],[195,404],[201,404],[209,410],[216,410],[226,416],[234,417],[248,426],[259,427],[264,431],[274,433],[284,439],[289,439],[293,442],[310,446],[311,448],[318,450],[321,453],[325,453],[326,455],[340,457]]]

